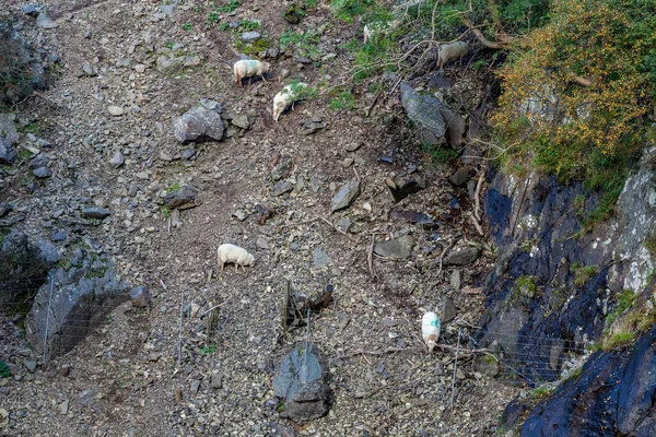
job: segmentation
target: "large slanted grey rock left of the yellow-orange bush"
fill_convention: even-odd
[[[401,104],[408,118],[417,126],[422,140],[432,145],[440,145],[444,141],[446,125],[440,113],[444,106],[431,94],[419,93],[407,83],[401,84]]]

